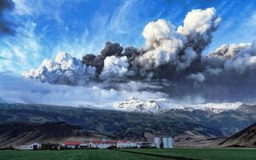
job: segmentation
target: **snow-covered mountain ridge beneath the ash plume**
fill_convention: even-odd
[[[205,104],[193,104],[193,105],[181,105],[173,103],[171,100],[158,99],[158,100],[139,100],[130,97],[124,101],[119,101],[113,104],[113,106],[122,111],[136,111],[136,112],[147,112],[147,113],[160,113],[169,110],[203,110],[212,111],[214,113],[220,113],[222,111],[236,110],[243,103],[205,103]]]

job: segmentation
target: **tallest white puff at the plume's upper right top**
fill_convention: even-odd
[[[220,21],[214,8],[193,9],[183,20],[183,26],[178,26],[177,32],[188,37],[193,49],[201,52],[211,43],[212,32],[217,30]]]

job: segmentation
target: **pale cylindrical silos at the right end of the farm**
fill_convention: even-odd
[[[157,148],[172,148],[173,140],[170,136],[158,136],[154,137],[154,145]]]

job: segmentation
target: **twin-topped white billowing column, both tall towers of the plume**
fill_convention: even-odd
[[[145,54],[138,58],[146,69],[171,64],[185,69],[212,41],[212,32],[220,23],[215,9],[194,9],[183,20],[177,31],[171,22],[156,20],[143,30]]]

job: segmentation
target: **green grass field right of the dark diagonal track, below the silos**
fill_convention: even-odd
[[[206,160],[256,160],[256,149],[237,148],[174,148],[174,149],[129,149],[124,151],[137,151],[155,155],[173,157],[187,157]]]

